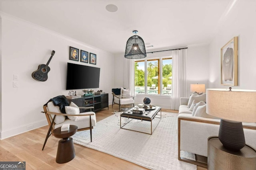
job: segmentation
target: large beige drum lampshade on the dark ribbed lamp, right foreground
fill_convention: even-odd
[[[256,90],[206,89],[206,113],[226,120],[256,122]]]

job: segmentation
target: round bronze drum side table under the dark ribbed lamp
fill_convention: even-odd
[[[208,170],[256,170],[256,150],[245,145],[239,151],[223,147],[216,136],[208,138]]]

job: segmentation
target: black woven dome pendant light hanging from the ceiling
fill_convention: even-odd
[[[135,35],[127,40],[124,57],[127,59],[143,59],[147,57],[143,39],[137,35],[138,31],[132,31],[132,33],[135,33]]]

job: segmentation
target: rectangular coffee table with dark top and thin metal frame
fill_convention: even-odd
[[[124,126],[128,125],[133,119],[139,119],[141,121],[150,121],[150,124],[151,124],[150,133],[146,133],[146,132],[138,131],[138,130],[132,130],[132,129],[127,129],[127,130],[131,130],[131,131],[136,131],[136,132],[141,132],[141,133],[146,133],[146,134],[152,135],[152,133],[156,129],[156,126],[158,125],[158,123],[162,119],[161,107],[153,106],[152,109],[149,109],[149,108],[146,109],[146,112],[143,113],[143,114],[132,113],[132,109],[134,109],[134,108],[135,107],[132,107],[131,109],[129,109],[127,111],[124,111],[123,113],[120,114],[120,128],[121,129],[126,129],[126,128],[124,128]],[[160,117],[156,116],[156,115],[158,115],[159,112],[160,112]],[[121,123],[122,117],[126,117],[126,118],[131,119],[131,120],[128,121],[127,123],[125,123],[124,125],[122,125],[122,123]],[[156,125],[155,125],[154,130],[153,130],[153,128],[152,128],[152,121],[154,119],[159,119],[159,120],[157,120]]]

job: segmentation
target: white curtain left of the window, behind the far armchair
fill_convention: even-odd
[[[130,88],[134,96],[134,59],[124,59],[124,88]]]

